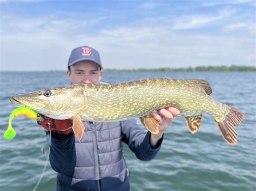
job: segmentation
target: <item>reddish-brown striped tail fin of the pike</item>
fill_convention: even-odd
[[[228,107],[229,112],[223,122],[217,122],[221,135],[226,140],[226,142],[232,146],[237,145],[237,132],[235,131],[235,126],[242,124],[242,119],[244,115],[235,108]]]

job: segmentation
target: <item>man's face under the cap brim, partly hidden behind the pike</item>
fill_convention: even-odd
[[[70,67],[67,71],[69,81],[76,83],[98,84],[102,77],[103,70],[92,61],[80,61]]]

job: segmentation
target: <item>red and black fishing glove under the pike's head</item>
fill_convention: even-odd
[[[41,114],[41,119],[37,120],[37,123],[47,131],[51,131],[59,135],[68,135],[72,131],[71,119],[52,119]]]

